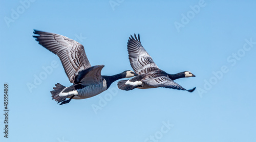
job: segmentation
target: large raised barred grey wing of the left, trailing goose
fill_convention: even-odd
[[[46,49],[56,54],[71,83],[81,70],[91,67],[83,45],[66,36],[34,30],[33,36]]]

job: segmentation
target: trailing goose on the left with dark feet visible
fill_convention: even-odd
[[[101,76],[104,65],[91,66],[84,52],[83,45],[66,36],[34,30],[33,37],[46,49],[56,54],[73,85],[65,87],[57,83],[51,91],[52,99],[60,105],[69,103],[71,99],[86,99],[105,91],[110,85],[122,78],[134,77],[132,70],[114,76]],[[66,98],[70,98],[66,100]]]

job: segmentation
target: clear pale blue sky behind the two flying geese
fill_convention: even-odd
[[[0,141],[254,141],[255,7],[255,1],[1,1]],[[59,106],[52,87],[72,84],[33,29],[80,42],[92,65],[105,65],[102,75],[132,69],[127,40],[140,33],[162,70],[189,70],[196,77],[176,82],[197,89],[123,91],[116,81],[98,96]]]

